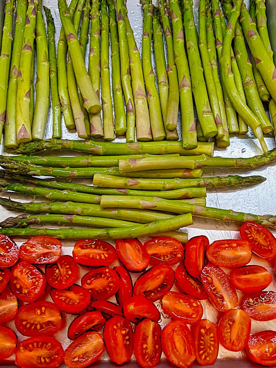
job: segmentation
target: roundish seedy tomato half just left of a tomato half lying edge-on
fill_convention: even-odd
[[[81,279],[82,287],[89,290],[94,300],[107,299],[117,293],[120,279],[110,267],[100,267],[87,272]]]

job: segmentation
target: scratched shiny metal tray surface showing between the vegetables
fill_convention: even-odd
[[[248,0],[246,3],[248,4]],[[57,2],[56,0],[44,0],[43,3],[49,7],[52,10],[55,24],[56,24],[56,42],[58,39],[59,31],[60,31],[60,20],[59,20],[59,12],[57,9]],[[276,28],[275,28],[275,19],[276,17],[273,17],[273,11],[275,14],[275,9],[273,5],[275,6],[275,0],[266,0],[267,6],[269,8],[268,16],[269,16],[269,25],[271,30],[271,35],[275,36],[275,38],[272,40],[272,44],[274,47],[274,50],[276,51]],[[199,0],[194,1],[194,9],[195,9],[195,21],[197,24],[198,21],[198,15],[197,15],[197,8],[198,8]],[[139,3],[139,0],[128,0],[127,1],[128,6],[128,14],[130,18],[131,25],[134,29],[134,35],[137,40],[138,48],[141,52],[141,46],[142,46],[142,9],[141,5]],[[0,24],[1,21],[3,21],[3,18],[1,19],[1,16],[3,14],[3,8],[4,8],[4,0],[0,0]],[[1,28],[1,27],[0,27]],[[273,42],[274,41],[274,42]],[[154,61],[154,60],[153,60]],[[86,50],[86,63],[88,62],[88,50]],[[155,64],[153,62],[153,64]],[[49,112],[49,124],[47,125],[47,131],[45,138],[50,138],[52,135],[52,128],[51,128],[51,116],[52,116],[52,107],[50,106],[50,112]],[[178,129],[179,131],[179,129]],[[69,139],[78,139],[77,134],[75,132],[68,132],[64,126],[63,122],[63,138],[69,138]],[[124,141],[124,139],[116,139],[116,141]],[[275,140],[272,137],[267,137],[266,142],[268,144],[269,149],[272,149],[275,147]],[[2,143],[3,144],[3,143]],[[2,152],[3,146],[0,147],[0,151]],[[254,137],[252,132],[249,132],[245,137],[231,137],[231,145],[226,150],[215,150],[215,156],[223,156],[223,157],[250,157],[255,154],[260,154],[261,149],[259,148],[259,144],[257,139]],[[69,153],[72,155],[72,153]],[[242,172],[240,170],[209,170],[205,172],[205,176],[213,176],[213,175],[222,175],[225,176],[227,174],[241,174],[243,176],[245,175],[262,175],[267,178],[267,180],[252,188],[238,188],[236,191],[225,189],[211,189],[208,190],[207,195],[207,205],[208,206],[214,206],[218,208],[225,208],[225,209],[234,209],[237,211],[246,211],[251,213],[257,213],[257,214],[264,214],[264,213],[270,213],[270,214],[276,214],[276,170],[275,165],[271,164],[269,166],[266,166],[261,169],[257,169],[254,171],[248,171],[248,172]],[[82,183],[91,184],[91,180],[82,180]],[[1,193],[3,196],[7,196],[7,193]],[[8,193],[8,195],[12,199],[20,199],[21,201],[37,201],[36,198],[31,196],[25,196],[22,198],[21,196],[18,196],[13,193]],[[0,214],[0,220],[8,217],[8,216],[15,216],[18,215],[18,213],[8,211],[6,209],[1,209]],[[224,238],[238,238],[238,227],[233,223],[221,223],[217,221],[212,220],[205,220],[205,219],[195,219],[194,224],[191,227],[182,229],[183,231],[187,231],[189,238],[196,236],[196,235],[206,235],[208,236],[210,242],[218,239],[224,239]],[[274,234],[276,235],[276,231],[274,231]],[[141,241],[145,240],[145,238],[141,239]],[[20,245],[22,243],[22,239],[17,238],[15,239],[17,243]],[[114,242],[110,242],[114,245]],[[63,253],[64,254],[71,254],[72,246],[74,245],[74,242],[72,241],[63,241]],[[263,260],[260,260],[258,257],[253,256],[252,257],[252,264],[260,264],[269,269],[272,275],[274,275],[273,271],[273,264],[270,262],[266,262]],[[112,264],[112,267],[117,265],[116,262]],[[86,268],[81,268],[81,276],[87,272]],[[139,274],[134,274],[133,279],[135,280]],[[273,281],[273,284],[271,284],[268,289],[270,290],[276,290],[276,283],[275,280]],[[239,295],[241,296],[241,294]],[[110,298],[111,301],[113,301],[114,298]],[[51,298],[49,297],[49,300]],[[156,305],[160,308],[160,303],[156,302]],[[73,317],[70,315],[66,316],[67,318],[67,326],[71,323]],[[213,322],[217,322],[217,311],[216,309],[210,304],[210,302],[204,302],[204,318],[208,318]],[[169,319],[162,315],[160,325],[164,326],[168,323]],[[11,328],[15,329],[14,323],[9,323]],[[263,329],[274,329],[276,330],[276,321],[269,321],[269,322],[255,322],[252,321],[252,329],[251,332],[254,333],[259,330]],[[19,340],[22,340],[24,337],[18,334]],[[63,344],[63,347],[66,348],[68,344],[70,343],[70,340],[67,339],[66,329],[62,330],[56,335],[57,339],[60,340],[60,342]],[[13,365],[13,358],[11,358],[11,364],[10,367],[14,367]],[[219,350],[219,360],[216,362],[215,367],[216,368],[232,368],[234,366],[233,359],[237,360],[237,364],[239,367],[257,367],[257,365],[254,365],[247,360],[244,360],[245,354],[244,352],[240,353],[232,353],[230,351],[227,351],[222,346],[220,346]],[[227,360],[224,360],[227,359]],[[105,351],[105,353],[100,358],[100,361],[95,364],[95,366],[100,365],[101,367],[110,367],[115,366],[115,364],[112,364],[109,361],[109,357]],[[131,362],[128,363],[128,366],[131,367],[137,367],[137,363],[135,362],[135,358],[133,356],[133,359]],[[162,361],[159,366],[162,367],[173,367],[164,357],[164,354],[162,355]],[[196,366],[196,365],[195,365]],[[65,365],[61,366],[62,368],[66,367]]]

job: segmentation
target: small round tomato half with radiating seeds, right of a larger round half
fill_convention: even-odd
[[[70,255],[62,255],[56,263],[45,268],[47,282],[55,289],[67,289],[78,278],[78,266]]]

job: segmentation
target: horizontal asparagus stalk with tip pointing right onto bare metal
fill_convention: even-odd
[[[166,181],[160,179],[142,179],[142,178],[122,178],[108,174],[95,174],[93,177],[93,185],[103,188],[131,188],[140,190],[174,190],[181,188],[219,188],[232,187],[240,185],[256,185],[265,181],[262,176],[242,177],[237,175],[204,177],[194,179],[168,179]]]

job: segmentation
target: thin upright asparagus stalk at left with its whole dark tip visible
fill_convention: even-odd
[[[53,138],[61,138],[61,108],[59,102],[59,92],[57,85],[57,59],[56,49],[54,46],[54,20],[50,9],[43,7],[46,20],[47,20],[47,32],[48,32],[48,47],[49,47],[49,61],[50,61],[50,83],[51,83],[51,96],[52,96],[52,109],[53,109]]]

